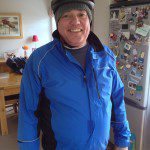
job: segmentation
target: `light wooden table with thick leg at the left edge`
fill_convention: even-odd
[[[0,79],[0,123],[2,135],[8,134],[5,96],[19,94],[21,75],[10,73],[9,78]]]

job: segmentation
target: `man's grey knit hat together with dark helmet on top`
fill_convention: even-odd
[[[90,0],[53,0],[51,3],[53,13],[55,15],[56,24],[65,12],[71,10],[85,10],[89,17],[89,21],[92,21],[92,10],[94,8],[94,2]]]

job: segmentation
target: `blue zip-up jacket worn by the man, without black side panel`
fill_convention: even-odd
[[[92,32],[90,35],[97,39]],[[91,43],[86,71],[65,51],[58,38],[30,56],[20,91],[18,141],[21,150],[39,149],[38,119],[34,113],[42,88],[51,102],[50,123],[57,141],[56,150],[105,150],[111,125],[115,144],[128,146],[130,130],[116,58],[100,42],[97,43],[100,50],[96,42]]]

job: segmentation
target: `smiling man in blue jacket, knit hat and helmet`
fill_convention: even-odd
[[[117,149],[127,149],[124,87],[115,56],[90,31],[94,1],[51,5],[58,29],[54,40],[32,53],[23,72],[20,149],[39,149],[40,128],[45,150],[105,150],[110,124]]]

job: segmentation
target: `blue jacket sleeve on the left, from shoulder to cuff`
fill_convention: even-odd
[[[38,119],[34,112],[38,107],[41,91],[36,58],[32,55],[25,65],[21,81],[18,120],[18,143],[20,150],[39,150]]]

